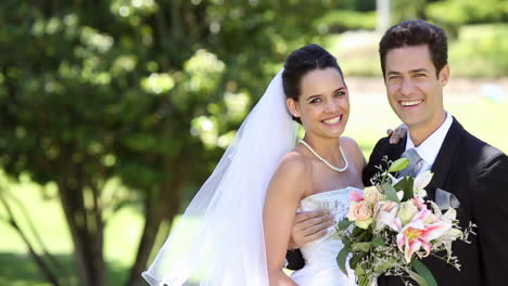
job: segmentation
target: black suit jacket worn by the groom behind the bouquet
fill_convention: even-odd
[[[392,145],[388,138],[377,144],[364,169],[364,184],[377,172],[374,166],[382,158],[395,160],[401,157],[406,140]],[[471,244],[456,242],[454,255],[458,257],[461,271],[444,261],[429,257],[423,263],[432,271],[439,285],[506,285],[508,283],[508,157],[503,152],[467,132],[454,118],[452,127],[432,166],[434,177],[427,186],[428,199],[434,199],[435,190],[455,194],[460,206],[457,219],[462,227],[469,222],[478,225]],[[289,269],[304,265],[300,251],[288,255]],[[380,277],[379,286],[404,285],[401,277]]]

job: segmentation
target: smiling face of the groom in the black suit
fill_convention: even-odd
[[[443,87],[448,66],[436,75],[427,44],[390,50],[385,86],[390,105],[409,129],[433,129],[444,120]],[[435,128],[435,129],[434,129]]]

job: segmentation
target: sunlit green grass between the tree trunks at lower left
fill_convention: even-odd
[[[45,199],[40,188],[28,182],[11,184],[10,191],[23,202],[49,251],[55,255],[64,265],[62,272],[74,273],[71,236],[65,227],[63,211],[58,202]],[[22,218],[18,208],[14,211],[16,218]],[[0,217],[5,217],[3,206],[0,207]],[[21,222],[23,229],[26,230],[26,222],[24,220]],[[107,224],[104,235],[104,252],[110,276],[107,285],[122,285],[126,278],[128,268],[136,256],[141,223],[141,217],[136,209],[125,208],[112,217]],[[34,238],[33,235],[29,237]],[[18,234],[3,220],[0,221],[0,265],[2,265],[0,285],[50,285],[45,283],[36,264],[27,255],[27,248]],[[72,276],[76,275],[72,274]]]

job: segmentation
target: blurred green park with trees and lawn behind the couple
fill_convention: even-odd
[[[448,32],[446,108],[508,152],[507,1],[2,0],[0,285],[144,285],[170,225],[304,44],[336,55],[346,135],[368,156],[399,123],[378,41],[410,18]]]

